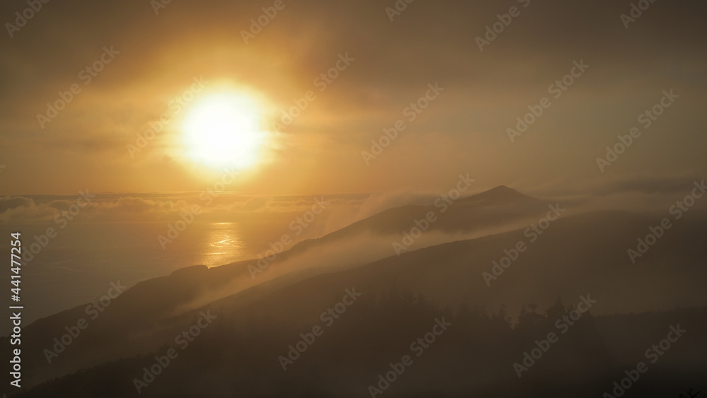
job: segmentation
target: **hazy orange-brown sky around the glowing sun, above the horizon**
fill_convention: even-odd
[[[247,43],[242,31],[274,1],[153,4],[50,1],[18,30],[5,25],[1,193],[205,190],[221,172],[186,155],[183,120],[224,91],[246,93],[270,121],[315,95],[227,187],[245,194],[428,192],[460,172],[479,188],[650,191],[706,170],[704,1],[656,1],[626,28],[631,1],[417,0],[390,21],[392,0],[284,0]],[[477,37],[514,6],[520,15],[480,51]],[[27,7],[4,1],[2,22]],[[345,54],[349,65],[322,91],[315,79]],[[102,71],[81,73],[102,56]],[[555,98],[550,86],[575,61],[588,68]],[[201,76],[204,89],[173,112]],[[81,92],[40,127],[37,114],[75,83]],[[406,107],[434,83],[443,91],[411,121]],[[638,117],[664,90],[679,97],[645,128]],[[549,107],[511,142],[507,129],[542,98]],[[131,156],[127,145],[165,112],[172,121]],[[406,128],[366,165],[361,152],[399,119]],[[631,127],[642,135],[600,171],[597,157]]]

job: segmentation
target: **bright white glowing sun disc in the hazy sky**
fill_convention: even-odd
[[[187,157],[211,168],[251,168],[267,136],[256,101],[238,93],[214,93],[197,103],[182,124]]]

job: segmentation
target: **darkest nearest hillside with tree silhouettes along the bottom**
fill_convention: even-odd
[[[361,293],[331,326],[273,319],[267,300],[235,312],[214,305],[216,319],[186,347],[167,341],[18,397],[602,397],[626,371],[636,381],[622,396],[677,397],[707,375],[707,308],[585,313],[562,334],[556,320],[571,316],[563,305],[525,312],[512,326],[503,312],[444,310],[406,291]],[[662,355],[646,354],[677,336],[671,327],[684,334]],[[641,362],[648,370],[639,374]]]

